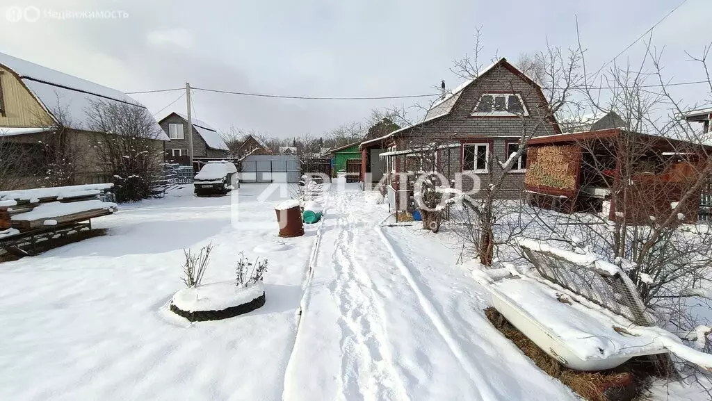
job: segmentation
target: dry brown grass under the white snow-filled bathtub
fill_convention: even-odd
[[[633,400],[639,395],[656,371],[651,360],[637,358],[630,360],[615,370],[602,372],[581,372],[561,365],[551,358],[526,335],[511,325],[495,308],[485,309],[485,316],[501,333],[519,347],[541,370],[555,377],[589,401]],[[651,366],[653,365],[653,366]],[[638,397],[635,397],[638,399]]]

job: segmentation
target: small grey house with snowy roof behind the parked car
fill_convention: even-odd
[[[226,157],[229,155],[229,148],[220,134],[207,123],[192,118],[193,134],[193,157]],[[186,127],[188,125],[187,115],[181,113],[169,113],[159,121],[162,130],[170,138],[166,143],[166,160],[187,164],[188,158],[188,137]]]

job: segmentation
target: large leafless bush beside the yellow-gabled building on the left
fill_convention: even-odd
[[[85,110],[88,127],[105,132],[95,137],[98,162],[112,175],[117,199],[137,201],[150,197],[159,179],[162,146],[160,128],[145,108],[97,100]]]

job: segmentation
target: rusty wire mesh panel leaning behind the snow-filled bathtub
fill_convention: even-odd
[[[653,326],[634,284],[619,272],[611,274],[595,263],[579,264],[548,251],[522,246],[525,257],[539,274],[569,291],[577,293],[608,311],[624,316],[639,326]]]

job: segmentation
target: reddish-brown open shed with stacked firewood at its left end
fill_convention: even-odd
[[[682,195],[697,187],[679,208],[685,221],[696,221],[696,184],[711,150],[622,129],[536,137],[528,142],[528,203],[642,223],[669,217]]]

